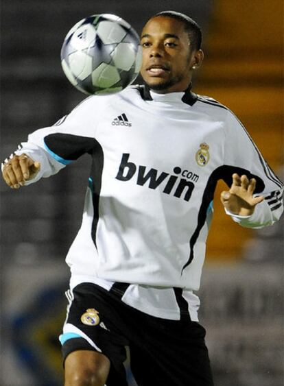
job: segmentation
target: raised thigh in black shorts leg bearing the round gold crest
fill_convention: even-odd
[[[78,363],[79,369],[87,370],[92,367],[92,361],[100,363],[105,374],[108,361],[110,368],[106,385],[127,385],[123,362],[128,341],[121,333],[122,321],[113,300],[97,286],[88,283],[75,287],[69,293],[69,299],[67,319],[60,336],[66,374],[70,372],[71,361]],[[75,352],[80,352],[80,355]]]

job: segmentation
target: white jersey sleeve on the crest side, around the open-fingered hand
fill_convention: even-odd
[[[224,178],[225,182],[230,186],[233,173],[246,174],[248,178],[257,180],[255,196],[265,197],[263,202],[257,204],[251,216],[233,215],[228,210],[226,213],[247,228],[263,228],[274,224],[283,213],[283,183],[270,169],[246,128],[232,112],[228,112],[225,130],[224,164],[230,170]]]

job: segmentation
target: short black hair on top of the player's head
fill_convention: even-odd
[[[158,12],[151,19],[158,16],[171,17],[181,21],[185,27],[185,32],[189,34],[189,40],[193,49],[200,49],[202,43],[202,31],[198,23],[191,19],[191,17],[176,11],[162,11]]]

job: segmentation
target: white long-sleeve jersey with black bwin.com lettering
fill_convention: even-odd
[[[93,158],[82,226],[67,254],[71,287],[130,283],[123,300],[159,317],[178,318],[178,288],[197,320],[192,291],[200,287],[217,180],[230,186],[235,172],[256,178],[255,193],[265,200],[250,217],[232,215],[243,226],[271,225],[283,211],[283,185],[244,126],[191,91],[131,86],[88,97],[22,146],[18,154],[41,164],[32,182],[82,154]]]

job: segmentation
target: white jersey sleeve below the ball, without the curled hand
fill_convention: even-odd
[[[40,171],[26,184],[58,173],[83,154],[91,152],[95,143],[96,115],[102,111],[100,99],[84,99],[55,125],[36,130],[29,134],[27,142],[21,143],[15,154],[27,154],[34,161],[40,162]]]

